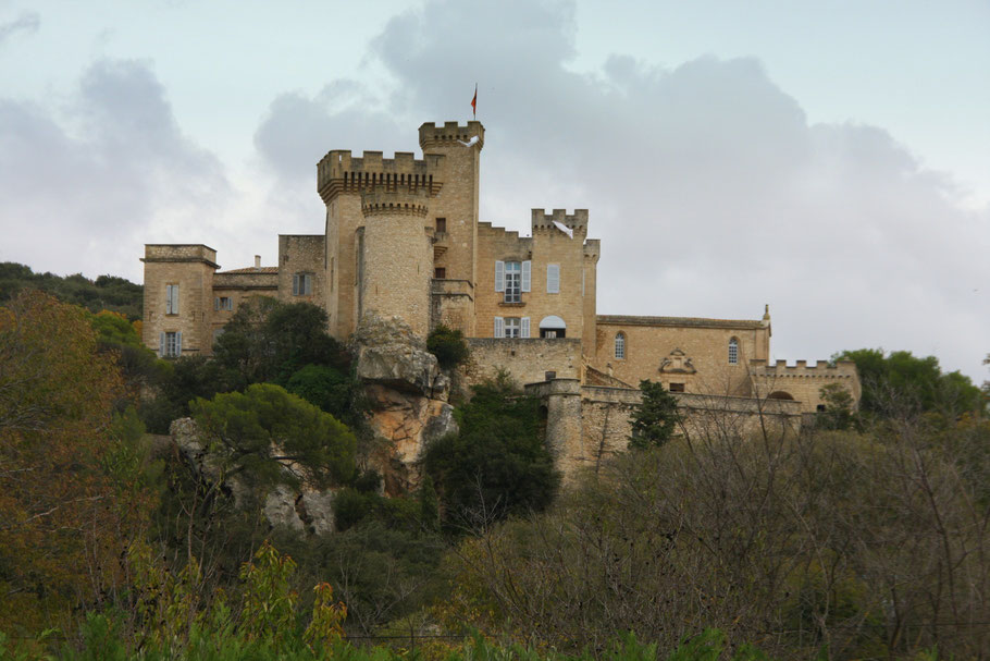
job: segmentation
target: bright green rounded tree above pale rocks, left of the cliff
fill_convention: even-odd
[[[355,473],[350,430],[285,389],[255,383],[243,393],[197,399],[193,416],[226,475],[256,483],[345,483]]]

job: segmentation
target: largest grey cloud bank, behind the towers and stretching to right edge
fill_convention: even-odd
[[[778,355],[883,344],[982,378],[990,291],[973,290],[990,290],[990,210],[963,210],[951,179],[882,128],[808,124],[752,58],[661,68],[618,53],[574,72],[573,12],[429,2],[369,52],[400,103],[331,82],[344,109],[275,103],[256,142],[311,181],[313,154],[412,149],[420,121],[470,117],[478,81],[484,220],[525,231],[530,207],[590,208],[601,311],[754,318],[769,302]]]

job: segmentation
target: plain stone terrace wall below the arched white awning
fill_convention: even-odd
[[[461,366],[466,385],[495,378],[500,370],[516,383],[524,385],[546,380],[546,372],[557,379],[581,379],[581,340],[469,338],[471,357]]]

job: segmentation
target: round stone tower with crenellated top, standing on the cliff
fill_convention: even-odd
[[[364,228],[358,265],[359,315],[401,317],[417,335],[430,332],[433,228],[423,189],[361,195]]]

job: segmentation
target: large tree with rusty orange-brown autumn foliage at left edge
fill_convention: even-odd
[[[121,391],[85,310],[39,292],[0,308],[0,628],[69,624],[121,586],[151,506]]]

